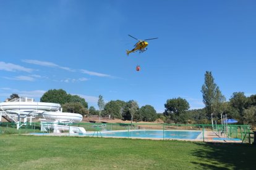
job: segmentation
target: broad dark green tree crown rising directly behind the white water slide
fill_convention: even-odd
[[[43,94],[40,102],[59,103],[63,105],[64,103],[70,102],[70,95],[62,89],[51,89]]]

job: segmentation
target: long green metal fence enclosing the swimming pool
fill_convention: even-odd
[[[56,129],[58,131],[56,131]],[[82,131],[85,129],[85,131]],[[211,124],[127,124],[127,123],[0,123],[0,134],[31,134],[132,139],[190,140],[202,142],[253,142],[249,125]]]

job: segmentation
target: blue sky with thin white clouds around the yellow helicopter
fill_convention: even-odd
[[[49,89],[203,108],[205,71],[229,100],[256,93],[256,1],[0,1],[0,101]],[[126,55],[135,39],[148,51]],[[135,71],[140,65],[141,71]]]

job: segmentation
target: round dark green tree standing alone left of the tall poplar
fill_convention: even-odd
[[[189,110],[189,103],[186,99],[181,97],[168,99],[164,107],[166,108],[164,116],[173,119],[174,123],[185,123],[186,111]]]

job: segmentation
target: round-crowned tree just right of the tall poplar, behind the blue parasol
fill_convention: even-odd
[[[244,124],[244,109],[247,105],[247,97],[244,95],[244,92],[234,92],[229,102],[239,112],[240,123]]]

